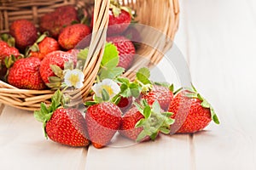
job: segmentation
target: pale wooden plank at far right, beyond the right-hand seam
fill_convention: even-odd
[[[256,169],[256,15],[248,5],[253,2],[195,0],[184,5],[192,79],[221,121],[193,137],[198,170]]]

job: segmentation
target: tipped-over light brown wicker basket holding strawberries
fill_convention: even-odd
[[[137,10],[139,23],[152,26],[173,40],[178,26],[177,0],[123,0],[121,3]],[[8,32],[10,23],[17,19],[32,20],[38,26],[40,16],[67,4],[77,8],[94,5],[94,33],[90,42],[89,56],[84,66],[84,87],[69,93],[74,101],[76,99],[87,101],[91,99],[90,88],[96,79],[102,59],[106,31],[102,33],[98,30],[104,30],[108,26],[109,0],[1,0],[0,33]],[[170,48],[172,43],[159,41],[158,38],[160,37],[154,37],[154,42],[159,42],[157,45],[161,47],[161,53],[156,48],[141,46],[137,54],[145,59],[141,57],[135,59],[130,71],[125,72],[125,77],[134,77],[133,71],[142,65],[156,65],[160,61],[165,49]],[[19,89],[0,81],[0,102],[27,111],[38,110],[41,102],[49,103],[53,93],[50,90]]]

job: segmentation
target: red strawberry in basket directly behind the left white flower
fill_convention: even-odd
[[[63,70],[65,62],[70,60],[73,61],[75,65],[76,58],[67,52],[55,51],[47,54],[40,66],[40,74],[44,82],[49,83],[49,77],[55,77],[55,73],[52,71],[50,65],[57,65]]]

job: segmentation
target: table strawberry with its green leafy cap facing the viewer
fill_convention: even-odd
[[[170,133],[170,125],[174,122],[171,115],[162,111],[157,101],[150,107],[142,100],[141,105],[136,104],[122,117],[119,133],[137,142],[154,140],[160,132]]]

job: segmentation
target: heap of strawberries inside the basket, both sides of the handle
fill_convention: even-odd
[[[60,69],[65,69],[67,61],[76,67],[82,54],[81,49],[75,48],[81,40],[86,40],[82,41],[83,47],[90,44],[93,18],[84,11],[70,5],[56,8],[39,18],[38,28],[29,20],[15,20],[9,26],[9,34],[1,35],[0,79],[21,89],[60,88]],[[111,1],[108,42],[118,48],[119,66],[125,70],[131,66],[136,52],[126,36],[127,31],[131,36],[131,20],[130,8]]]

